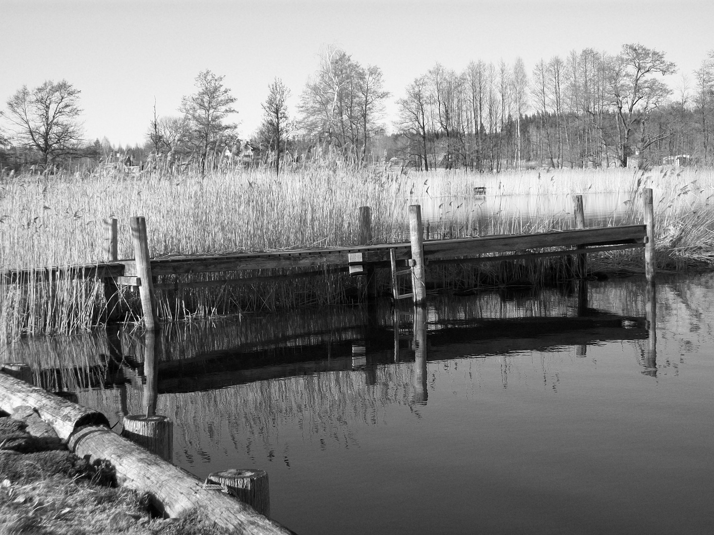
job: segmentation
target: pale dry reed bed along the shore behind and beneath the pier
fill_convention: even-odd
[[[431,238],[570,228],[568,213],[549,214],[547,210],[536,218],[513,213],[481,216],[462,202],[474,196],[474,188],[481,187],[489,196],[503,199],[513,195],[547,199],[548,195],[622,193],[628,210],[619,223],[641,222],[638,195],[642,188],[652,187],[659,267],[683,269],[714,263],[714,210],[710,208],[713,169],[562,169],[493,175],[436,170],[401,175],[373,168],[306,167],[277,177],[260,169],[211,172],[203,178],[191,173],[96,178],[20,175],[0,183],[0,269],[104,261],[104,221],[110,217],[119,220],[119,258],[131,258],[129,218],[133,215],[146,217],[152,257],[351,245],[359,240],[357,213],[363,205],[371,207],[375,243],[406,241],[408,205],[433,202],[435,198],[443,202],[429,221]],[[598,260],[609,267],[638,267],[640,256],[620,252],[602,255]],[[498,284],[500,270],[511,269],[519,277],[537,281],[547,279],[548,272],[560,269],[558,265],[563,264],[541,263],[525,270],[489,265],[453,268],[441,272],[438,278],[458,278],[466,286]],[[243,272],[235,276],[254,275]],[[209,280],[225,278],[225,274],[201,277]],[[346,300],[351,294],[346,295],[345,289],[354,287],[355,282],[336,273],[278,284],[159,292],[159,312],[164,320],[178,320],[327,305]],[[129,291],[123,298],[129,305],[135,299]],[[89,330],[103,321],[104,306],[99,280],[3,284],[0,340]]]

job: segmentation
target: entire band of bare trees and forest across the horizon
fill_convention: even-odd
[[[680,82],[668,86],[663,76],[675,73]],[[24,86],[1,112],[11,130],[0,131],[0,165],[86,168],[121,158],[203,170],[262,163],[279,171],[321,159],[498,171],[714,163],[714,50],[692,76],[640,44],[618,54],[571,51],[530,69],[520,58],[512,65],[472,61],[461,72],[437,63],[395,96],[384,90],[378,66],[326,46],[296,109],[288,109],[291,91],[280,78],[271,83],[249,139],[239,139],[228,121],[236,99],[223,76],[203,71],[195,87],[176,115],[147,118],[145,143],[115,147],[106,138],[84,140],[80,91],[71,83]],[[398,115],[388,127],[389,99]]]

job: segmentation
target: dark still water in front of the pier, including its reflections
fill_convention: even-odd
[[[155,403],[176,464],[265,469],[299,534],[714,533],[714,276],[643,278],[172,327],[148,382],[139,333],[4,358]]]

